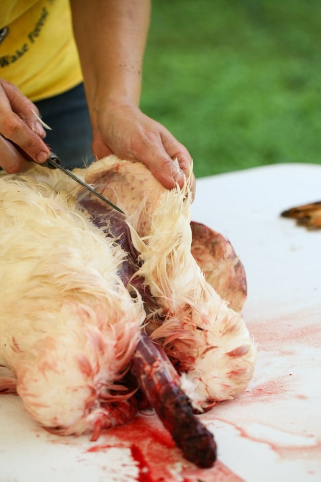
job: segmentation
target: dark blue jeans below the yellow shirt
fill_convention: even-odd
[[[94,161],[92,130],[83,84],[35,104],[43,121],[52,129],[46,130],[44,141],[55,151],[62,166],[72,169]]]

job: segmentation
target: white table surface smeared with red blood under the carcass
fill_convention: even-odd
[[[193,220],[231,241],[248,280],[244,317],[258,347],[244,394],[201,418],[215,468],[196,469],[155,416],[110,433],[59,437],[0,395],[0,482],[319,482],[321,231],[280,218],[321,198],[321,166],[279,164],[197,181]]]

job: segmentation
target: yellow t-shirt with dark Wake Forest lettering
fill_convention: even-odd
[[[82,81],[68,0],[0,0],[0,29],[0,77],[31,100]]]

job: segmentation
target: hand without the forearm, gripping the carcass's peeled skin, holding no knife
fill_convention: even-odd
[[[115,154],[120,159],[140,161],[167,189],[183,186],[190,175],[188,150],[160,123],[138,107],[109,101],[92,113],[93,153],[98,159]],[[195,176],[190,188],[195,193]]]

